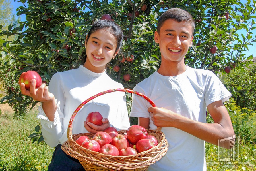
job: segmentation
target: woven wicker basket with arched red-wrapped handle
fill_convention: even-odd
[[[105,155],[99,152],[91,151],[89,149],[83,148],[82,146],[78,145],[75,140],[82,135],[88,136],[88,138],[92,138],[93,134],[91,133],[80,133],[80,134],[73,134],[72,135],[72,122],[77,114],[77,112],[86,104],[87,102],[91,101],[92,99],[115,91],[123,91],[127,93],[137,94],[144,99],[146,99],[153,107],[156,105],[152,102],[147,96],[143,95],[142,93],[130,90],[130,89],[113,89],[98,93],[84,101],[80,104],[77,109],[72,114],[69,126],[67,129],[67,138],[68,140],[64,142],[61,146],[62,150],[70,155],[71,157],[78,159],[79,162],[82,164],[85,170],[147,170],[150,164],[155,163],[156,161],[160,160],[168,150],[168,142],[165,138],[163,132],[161,132],[161,128],[158,127],[156,130],[147,130],[148,135],[154,136],[158,140],[158,145],[136,155],[130,156],[111,156]],[[118,134],[126,134],[127,130],[118,131]]]

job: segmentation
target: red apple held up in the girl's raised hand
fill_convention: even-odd
[[[20,78],[19,78],[19,85],[21,83],[24,83],[26,89],[29,90],[30,89],[30,83],[31,83],[32,79],[36,80],[36,88],[41,86],[42,79],[41,79],[40,75],[36,71],[22,72],[22,74],[20,75]]]

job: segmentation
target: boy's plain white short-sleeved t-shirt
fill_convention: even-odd
[[[219,100],[224,102],[231,97],[230,92],[213,72],[191,67],[173,77],[154,72],[137,84],[134,90],[148,96],[157,107],[164,107],[203,123],[206,123],[206,107],[210,103]],[[130,116],[151,118],[147,112],[150,106],[145,99],[133,94]],[[149,126],[150,129],[156,129],[151,119]],[[169,149],[166,155],[150,165],[148,170],[206,170],[203,140],[174,127],[163,127],[161,131],[166,135]]]

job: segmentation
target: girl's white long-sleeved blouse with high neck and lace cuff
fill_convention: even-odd
[[[78,69],[54,74],[49,83],[49,92],[54,94],[58,104],[54,121],[49,121],[42,107],[38,114],[46,144],[51,147],[63,144],[67,140],[67,127],[75,109],[93,95],[116,88],[123,89],[123,86],[106,72],[94,73],[82,65]],[[95,111],[108,118],[110,124],[118,129],[128,129],[130,126],[125,93],[112,92],[96,97],[77,112],[72,123],[72,134],[88,132],[83,122],[90,112]]]

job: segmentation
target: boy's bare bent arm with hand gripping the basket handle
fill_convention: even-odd
[[[222,101],[207,106],[214,123],[202,123],[176,114],[165,108],[150,107],[148,112],[158,127],[175,127],[206,142],[218,145],[218,140],[234,135],[232,123]]]

